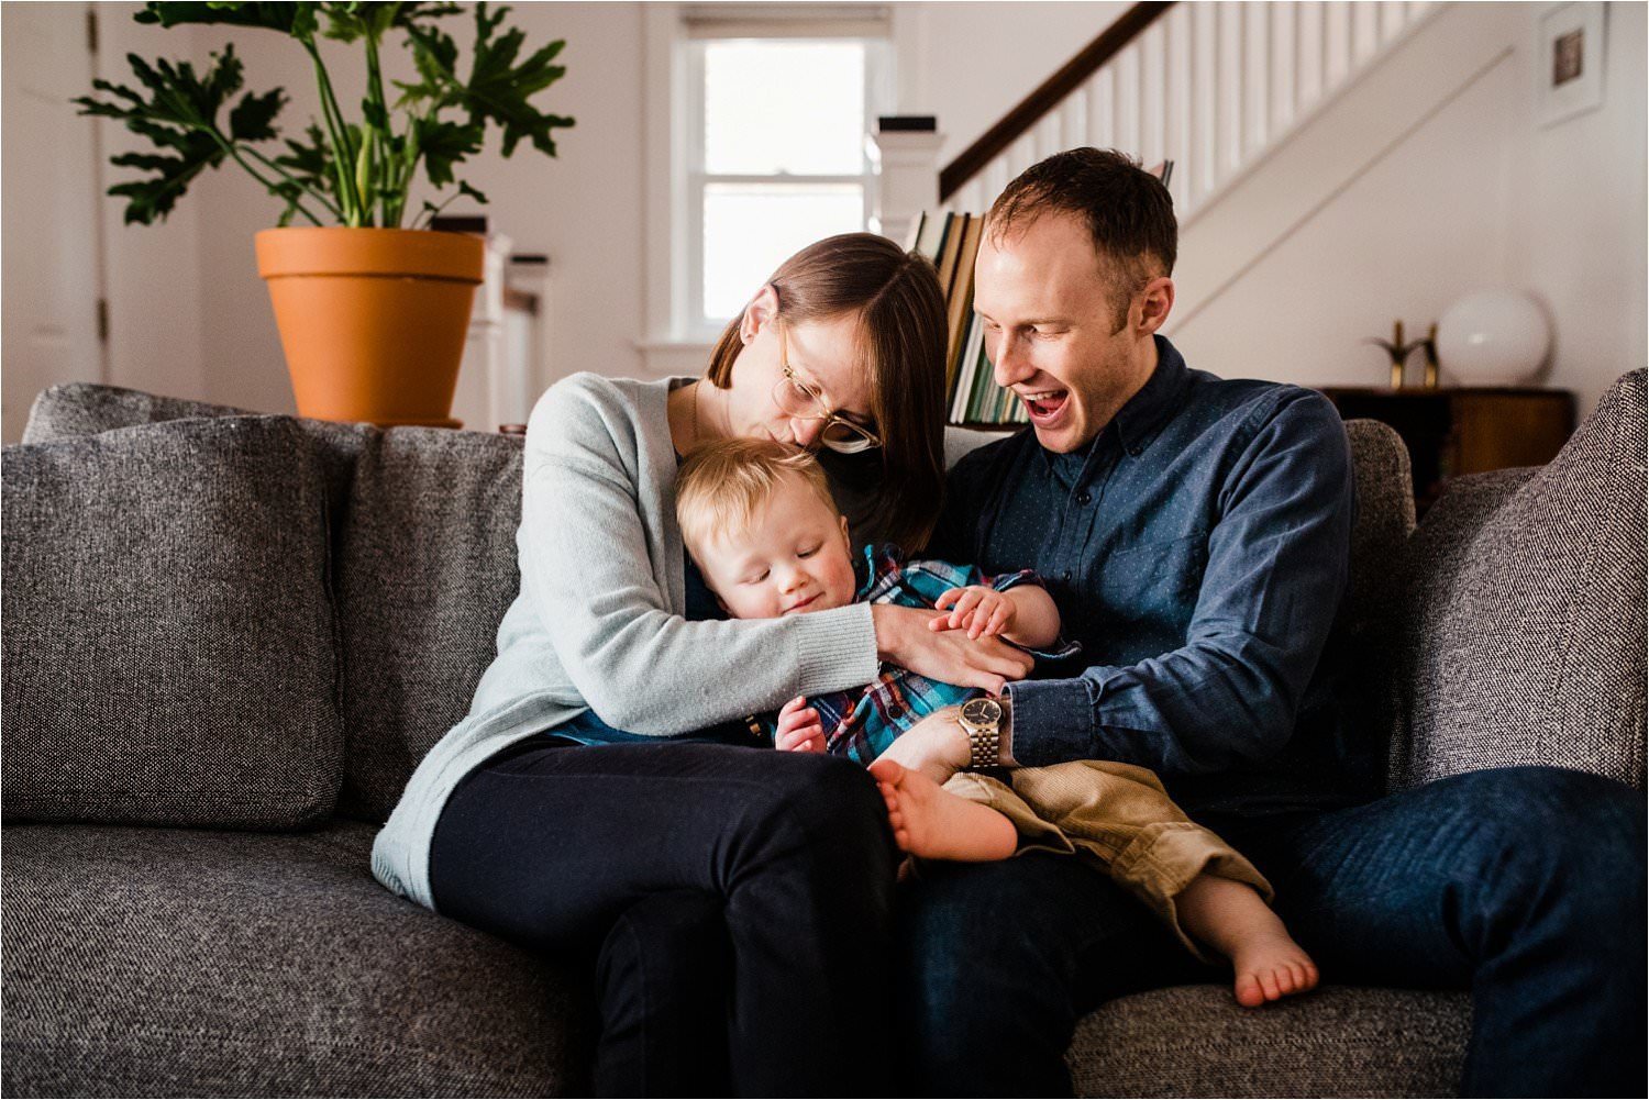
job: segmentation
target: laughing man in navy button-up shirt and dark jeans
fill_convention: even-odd
[[[1032,432],[958,463],[930,551],[1042,574],[1082,666],[1009,684],[994,729],[937,714],[909,736],[951,764],[1153,769],[1271,879],[1326,983],[1473,990],[1468,1095],[1641,1092],[1641,798],[1557,769],[1379,797],[1384,759],[1351,736],[1324,656],[1354,511],[1344,429],[1321,394],[1222,381],[1158,335],[1176,237],[1167,191],[1115,152],[1050,157],[993,204],[975,308]],[[933,1095],[1069,1093],[1080,1014],[1215,978],[1047,854],[927,869],[902,940]]]

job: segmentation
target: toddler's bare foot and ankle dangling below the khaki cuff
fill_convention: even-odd
[[[1238,1004],[1258,1008],[1316,988],[1318,965],[1252,886],[1199,874],[1179,896],[1179,917],[1191,935],[1232,960]]]

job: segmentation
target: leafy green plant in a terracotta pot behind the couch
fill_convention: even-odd
[[[483,241],[437,233],[430,219],[460,195],[486,196],[453,176],[482,150],[488,125],[503,130],[503,155],[523,140],[554,157],[552,130],[572,119],[544,114],[531,99],[566,73],[552,64],[562,41],[523,58],[524,35],[501,30],[510,8],[475,12],[468,74],[458,46],[439,20],[455,3],[148,3],[139,23],[221,23],[292,38],[308,53],[322,117],[302,139],[280,139],[275,119],[284,89],[246,92],[234,45],[211,58],[204,74],[186,61],[127,54],[139,87],[94,81],[81,114],[120,119],[150,139],[153,153],[122,153],[110,163],[147,175],[117,183],[125,221],[165,219],[204,170],[234,162],[284,203],[277,228],[256,237],[257,269],[269,284],[280,343],[300,416],[374,424],[442,424],[482,280]],[[392,81],[389,101],[381,56],[397,36],[412,51],[416,81]],[[348,120],[322,59],[322,40],[358,46],[366,91]],[[277,139],[284,148],[272,147]],[[409,218],[422,173],[435,198]],[[303,224],[298,224],[303,223]],[[406,226],[406,228],[402,228]]]

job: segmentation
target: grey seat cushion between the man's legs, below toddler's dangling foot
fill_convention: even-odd
[[[1471,994],[1324,986],[1263,1009],[1176,986],[1088,1014],[1065,1057],[1078,1097],[1451,1097]]]

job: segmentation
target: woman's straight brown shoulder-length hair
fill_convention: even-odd
[[[843,233],[787,259],[767,284],[785,323],[859,315],[871,416],[884,442],[881,491],[866,515],[849,510],[849,519],[907,552],[920,549],[945,488],[945,294],[933,264],[874,233]],[[721,389],[732,384],[744,346],[740,322],[727,323],[711,353],[706,378]],[[826,460],[833,475],[841,465]]]

